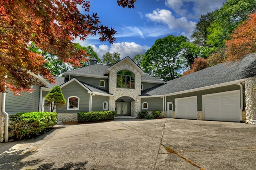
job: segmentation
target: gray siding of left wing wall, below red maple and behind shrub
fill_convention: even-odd
[[[6,93],[5,111],[8,114],[15,114],[26,111],[39,110],[40,87],[33,86],[32,93],[20,93],[21,96],[15,96],[13,92]]]

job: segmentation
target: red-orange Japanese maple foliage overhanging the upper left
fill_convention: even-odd
[[[117,0],[134,8],[135,0]],[[78,7],[84,9],[82,14]],[[32,74],[54,82],[44,67],[44,57],[28,49],[32,42],[42,51],[55,54],[63,62],[79,65],[87,54],[72,41],[99,35],[100,41],[115,41],[116,31],[100,24],[97,14],[89,14],[87,0],[0,0],[0,92],[30,91],[40,83]]]

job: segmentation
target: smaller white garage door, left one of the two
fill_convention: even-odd
[[[197,96],[175,99],[175,117],[197,119]]]

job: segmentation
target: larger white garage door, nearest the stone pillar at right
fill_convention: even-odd
[[[205,120],[240,122],[240,91],[202,96]]]

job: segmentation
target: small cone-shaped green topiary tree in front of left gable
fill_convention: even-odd
[[[66,100],[60,86],[55,86],[52,90],[45,96],[44,100],[51,107],[51,112],[54,111],[55,106],[62,107],[66,104]]]

